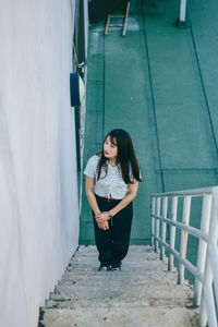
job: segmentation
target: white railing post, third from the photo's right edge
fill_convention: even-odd
[[[190,209],[191,209],[191,196],[184,196],[183,204],[183,215],[182,215],[182,223],[189,225],[190,222]],[[180,239],[180,255],[185,258],[186,257],[186,246],[187,246],[187,232],[185,230],[181,231]],[[179,274],[178,274],[178,283],[183,283],[184,281],[184,265],[179,264]]]

